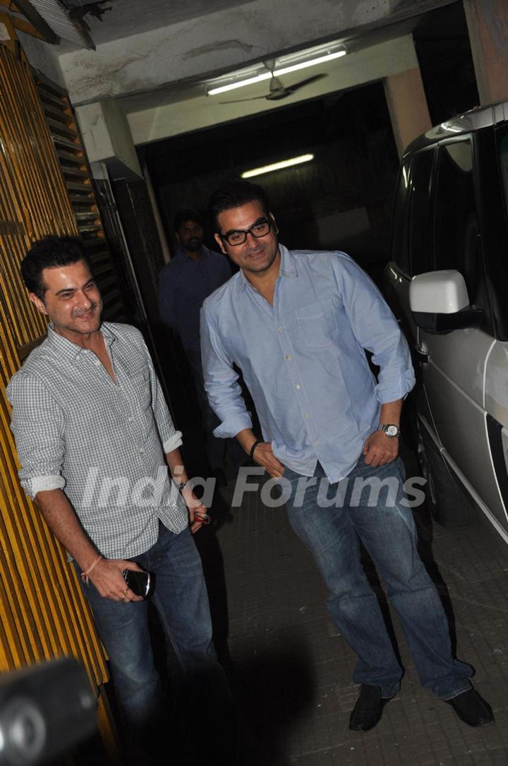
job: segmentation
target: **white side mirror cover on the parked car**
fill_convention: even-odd
[[[409,306],[417,313],[455,314],[469,306],[464,277],[446,269],[417,274],[409,283]]]

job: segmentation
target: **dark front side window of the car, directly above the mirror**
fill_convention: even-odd
[[[435,267],[460,271],[471,303],[477,303],[484,287],[484,269],[474,196],[473,146],[469,139],[439,148]]]

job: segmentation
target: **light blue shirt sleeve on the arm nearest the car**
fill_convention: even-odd
[[[409,346],[376,285],[349,257],[336,270],[337,285],[353,333],[379,366],[374,394],[380,404],[403,399],[415,385]]]

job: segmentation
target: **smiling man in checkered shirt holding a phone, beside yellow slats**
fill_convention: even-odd
[[[204,705],[217,713],[215,719],[231,721],[191,535],[207,520],[206,509],[183,486],[188,479],[181,433],[174,430],[142,335],[129,325],[101,322],[100,293],[77,239],[35,243],[21,273],[31,302],[50,325],[8,385],[19,476],[82,574],[129,725],[145,742],[153,742],[156,729],[164,732],[147,603],[122,576],[140,568],[155,575],[152,601],[195,710],[203,713],[201,728]],[[209,757],[224,760],[217,728],[210,737]]]

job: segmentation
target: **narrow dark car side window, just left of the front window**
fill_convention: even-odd
[[[409,274],[434,268],[431,225],[431,171],[435,152],[419,152],[411,173],[411,215],[409,219]]]

